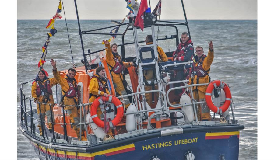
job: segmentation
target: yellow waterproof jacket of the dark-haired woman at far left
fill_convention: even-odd
[[[54,85],[57,85],[58,84],[58,81],[55,79],[55,78],[48,78],[48,79],[44,79],[43,82],[41,83],[42,85],[45,85],[45,83],[47,82],[47,80],[50,81],[50,86],[54,86]],[[38,100],[38,102],[43,102],[43,98],[45,98],[44,96],[39,96],[37,97],[36,95],[36,89],[37,89],[37,85],[36,85],[36,82],[33,83],[32,87],[31,87],[31,96],[35,102],[35,100]],[[49,101],[47,102],[48,104],[54,104],[54,101],[53,101],[53,96],[52,94],[49,95]],[[44,99],[45,100],[45,99]]]

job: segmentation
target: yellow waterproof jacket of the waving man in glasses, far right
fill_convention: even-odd
[[[214,58],[213,51],[210,51],[210,49],[209,49],[207,57],[204,59],[203,64],[202,64],[202,67],[205,71],[210,69],[210,65],[213,62],[213,58]],[[195,66],[197,67],[199,62],[201,62],[201,61],[202,61],[202,58],[200,60],[198,60],[197,62],[195,62],[195,60],[194,60],[193,64],[195,64]],[[207,73],[209,74],[209,71]],[[192,84],[192,81],[193,81],[193,84],[197,84],[197,75],[195,75],[194,78],[191,78],[191,77],[189,78],[189,84]],[[199,82],[198,82],[199,84],[208,83],[208,82],[209,82],[208,75],[206,75],[205,77],[199,77]],[[201,92],[204,92],[204,93],[206,92],[207,85],[195,86],[195,87],[192,87],[192,90],[196,89],[196,87]]]

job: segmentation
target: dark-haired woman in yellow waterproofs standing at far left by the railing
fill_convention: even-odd
[[[34,102],[37,103],[37,114],[38,118],[42,121],[45,120],[45,115],[47,115],[47,125],[48,125],[48,130],[49,132],[52,133],[52,124],[51,124],[51,112],[50,112],[50,105],[51,109],[53,108],[54,101],[53,101],[53,96],[52,96],[52,90],[51,87],[54,85],[57,85],[58,82],[55,78],[48,78],[45,74],[44,70],[40,70],[38,72],[38,77],[35,79],[35,82],[33,83],[31,87],[31,96],[34,99]],[[40,109],[39,109],[39,104],[40,102],[40,109],[41,109],[41,115],[42,119],[40,117]],[[53,113],[52,113],[53,116]],[[53,118],[54,122],[54,118]],[[39,122],[38,124],[40,135],[42,135],[42,128],[41,128],[41,123]]]

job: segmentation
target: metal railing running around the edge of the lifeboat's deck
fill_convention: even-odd
[[[181,113],[183,113],[184,114],[184,117],[186,117],[186,115],[185,115],[185,113],[184,112],[182,112],[182,111],[178,111],[178,110],[176,110],[176,111],[170,111],[169,110],[169,108],[168,108],[168,106],[171,106],[171,107],[184,107],[184,106],[189,106],[189,105],[192,105],[192,107],[193,107],[193,112],[194,112],[194,115],[195,115],[195,121],[198,121],[198,117],[197,117],[197,113],[196,113],[196,110],[197,110],[197,107],[198,107],[198,104],[202,104],[202,103],[205,103],[205,101],[200,101],[200,102],[197,102],[195,99],[194,99],[194,97],[193,97],[193,92],[192,92],[192,87],[193,86],[201,86],[201,85],[208,85],[209,83],[203,83],[203,84],[193,84],[193,85],[188,85],[188,84],[185,84],[184,86],[179,86],[179,87],[174,87],[174,88],[170,88],[170,89],[168,89],[167,90],[167,92],[165,92],[165,88],[166,88],[166,86],[167,85],[169,85],[169,84],[175,84],[175,83],[182,83],[182,82],[188,82],[188,80],[181,80],[181,81],[171,81],[171,82],[168,82],[168,83],[163,83],[163,85],[165,85],[165,87],[163,87],[163,90],[164,91],[162,91],[162,90],[150,90],[150,91],[144,91],[144,92],[136,92],[136,93],[131,93],[131,94],[127,94],[127,95],[122,95],[122,96],[118,96],[117,98],[118,99],[121,99],[121,101],[123,101],[124,100],[124,97],[129,97],[129,96],[132,96],[132,98],[134,99],[134,101],[135,101],[135,103],[136,103],[136,108],[137,108],[137,111],[136,112],[130,112],[130,113],[124,113],[124,115],[126,116],[126,115],[129,115],[129,114],[134,114],[134,115],[136,115],[136,116],[139,116],[140,117],[140,122],[137,122],[136,123],[136,126],[138,126],[138,125],[140,125],[140,123],[141,123],[141,127],[142,127],[142,123],[143,123],[143,121],[142,121],[142,118],[141,118],[141,114],[142,113],[148,113],[148,112],[152,112],[152,111],[154,111],[155,113],[153,113],[153,114],[151,114],[150,116],[148,116],[148,117],[146,117],[147,118],[147,120],[148,120],[148,128],[149,129],[152,129],[151,127],[151,120],[153,119],[153,118],[156,118],[157,117],[157,115],[162,115],[162,117],[164,116],[164,115],[166,115],[167,113],[172,113],[172,112],[181,112]],[[40,125],[41,125],[41,129],[42,129],[42,138],[44,139],[44,140],[49,140],[49,135],[47,135],[47,132],[46,132],[46,124],[45,123],[47,123],[47,124],[49,124],[49,123],[51,123],[51,125],[52,125],[52,130],[53,130],[53,132],[52,132],[52,139],[53,139],[53,141],[54,142],[56,142],[56,137],[55,137],[55,135],[54,135],[54,125],[55,124],[61,124],[61,125],[63,125],[64,127],[64,140],[65,141],[67,141],[67,143],[69,142],[68,141],[68,133],[67,133],[67,125],[71,125],[71,124],[75,124],[75,123],[67,123],[66,122],[66,118],[65,118],[65,116],[68,116],[67,115],[67,113],[65,113],[66,111],[65,111],[65,109],[64,109],[64,107],[65,107],[65,105],[55,105],[55,104],[49,104],[49,103],[40,103],[40,102],[38,102],[37,104],[39,105],[39,111],[40,111],[40,119],[39,118],[35,118],[34,116],[33,116],[33,108],[32,108],[32,101],[33,101],[33,99],[31,99],[30,97],[27,97],[26,96],[26,94],[23,92],[23,85],[24,84],[21,84],[21,88],[20,88],[20,108],[21,108],[21,117],[20,117],[20,120],[21,120],[21,122],[22,122],[22,124],[25,126],[25,128],[26,128],[26,130],[28,130],[28,131],[30,131],[30,133],[31,134],[33,134],[33,135],[36,135],[35,133],[35,125],[34,125],[34,121],[33,120],[37,120],[38,122],[40,122]],[[190,93],[190,97],[191,97],[191,103],[189,103],[189,104],[184,104],[184,105],[181,105],[181,104],[176,104],[176,105],[173,105],[173,104],[171,104],[170,103],[170,101],[169,101],[169,93],[171,92],[171,91],[173,91],[173,90],[176,90],[176,89],[183,89],[183,88],[188,88],[189,89],[189,93]],[[138,87],[137,87],[137,91],[138,91],[139,89],[138,89]],[[138,98],[138,96],[143,96],[144,94],[146,94],[146,93],[153,93],[153,92],[159,92],[159,93],[161,93],[161,95],[159,94],[159,97],[162,97],[163,98],[163,104],[160,106],[160,107],[156,107],[156,108],[153,108],[153,109],[145,109],[145,108],[143,108],[142,106],[144,106],[144,104],[143,103],[145,103],[146,102],[146,100],[144,100],[143,102],[139,102],[139,98]],[[160,98],[159,98],[160,99]],[[29,101],[29,106],[30,106],[30,111],[26,111],[26,101]],[[138,104],[137,104],[137,102],[138,102],[138,104],[139,104],[139,107],[137,107],[138,106]],[[81,132],[82,132],[82,127],[84,126],[84,129],[85,129],[85,131],[86,131],[86,133],[87,133],[87,139],[89,140],[89,141],[91,141],[91,137],[90,136],[88,136],[88,127],[87,127],[87,125],[88,124],[90,124],[90,123],[92,123],[92,122],[86,122],[86,107],[85,106],[88,106],[88,105],[91,105],[92,103],[84,103],[84,104],[79,104],[79,105],[68,105],[68,106],[75,106],[75,107],[80,107],[80,123],[79,123],[79,125],[80,125],[80,135],[82,135],[81,134]],[[41,114],[41,105],[49,105],[50,106],[50,119],[51,119],[51,122],[47,122],[46,120],[42,120],[42,114]],[[167,106],[168,105],[168,106]],[[54,114],[53,113],[53,110],[52,110],[52,108],[53,108],[53,106],[58,106],[58,107],[61,107],[62,109],[62,112],[63,112],[63,114],[62,115],[60,115],[60,114]],[[125,109],[125,105],[124,105],[124,103],[123,103],[123,106],[124,106],[124,109]],[[233,120],[235,121],[235,118],[234,118],[234,113],[233,113],[233,107],[232,107],[232,104],[230,104],[230,107],[231,107],[231,111],[232,111],[232,116],[233,116]],[[82,121],[82,111],[83,111],[83,119],[84,119],[84,121]],[[27,117],[30,117],[30,122],[28,122],[28,120],[27,120]],[[54,122],[54,116],[63,116],[63,123],[55,123]],[[187,118],[187,117],[186,117]],[[101,120],[103,120],[104,118],[101,118]],[[157,119],[157,118],[156,118]],[[29,123],[30,123],[30,127],[28,127],[28,125],[29,125]],[[83,125],[83,126],[82,126]],[[29,128],[30,128],[30,130],[29,130]],[[80,136],[80,140],[81,140],[81,136]]]

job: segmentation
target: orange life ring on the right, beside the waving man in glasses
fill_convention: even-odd
[[[211,93],[213,89],[215,89],[216,87],[221,87],[226,94],[226,101],[221,107],[214,106],[211,100]],[[230,102],[231,102],[231,93],[226,83],[220,80],[215,80],[209,83],[206,89],[206,104],[210,110],[212,110],[214,113],[222,114],[228,109],[228,107],[230,106]]]

